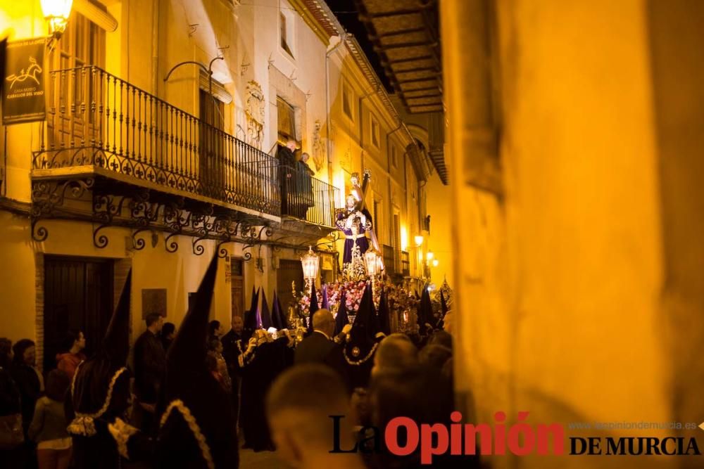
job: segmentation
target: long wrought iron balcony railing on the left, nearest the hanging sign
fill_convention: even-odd
[[[99,171],[226,207],[281,213],[276,158],[101,68],[56,70],[49,80],[35,177]]]

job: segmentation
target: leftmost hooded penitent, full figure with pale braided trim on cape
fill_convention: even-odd
[[[125,418],[130,405],[130,373],[125,368],[130,350],[130,294],[127,274],[118,307],[106,330],[101,349],[76,369],[65,401],[68,432],[73,437],[77,469],[118,468],[120,456],[108,423]]]

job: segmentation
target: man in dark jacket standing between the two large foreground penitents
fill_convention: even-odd
[[[163,317],[152,313],[146,316],[146,330],[134,342],[134,423],[137,428],[151,434],[156,430],[156,401],[166,370],[166,354],[158,333]]]

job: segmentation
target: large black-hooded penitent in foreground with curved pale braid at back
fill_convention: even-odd
[[[208,316],[218,257],[208,266],[196,300],[166,356],[157,459],[162,468],[237,467],[232,404],[206,366]]]

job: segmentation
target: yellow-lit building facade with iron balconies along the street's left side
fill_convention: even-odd
[[[225,325],[253,287],[285,308],[308,245],[333,281],[353,173],[370,172],[387,272],[420,276],[427,162],[358,44],[322,1],[253,3],[75,1],[47,40],[46,119],[0,132],[2,330],[44,366],[70,328],[97,347],[130,269],[134,338],[150,312],[180,323],[216,254]],[[0,20],[11,41],[46,37],[39,0],[4,2]],[[279,165],[289,140],[309,187]]]

